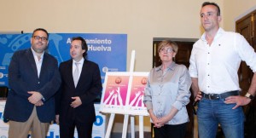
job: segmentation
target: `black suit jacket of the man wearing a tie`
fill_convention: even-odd
[[[73,83],[73,60],[62,62],[59,70],[61,73],[61,88],[56,98],[56,114],[60,115],[60,123],[73,122],[74,119],[79,123],[94,122],[96,120],[93,101],[96,96],[101,95],[102,80],[99,66],[89,60],[84,60],[79,83],[75,88]],[[82,105],[73,108],[70,106],[73,101],[71,97],[79,96]],[[62,123],[63,123],[62,122]]]

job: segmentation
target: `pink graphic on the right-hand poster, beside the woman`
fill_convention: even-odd
[[[148,78],[145,76],[134,76],[131,84],[130,106],[144,107],[144,88]]]

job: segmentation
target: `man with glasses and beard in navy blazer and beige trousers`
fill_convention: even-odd
[[[55,119],[53,95],[61,85],[57,60],[44,52],[49,34],[34,30],[31,48],[15,52],[9,64],[9,95],[4,118],[9,120],[9,138],[45,138]]]

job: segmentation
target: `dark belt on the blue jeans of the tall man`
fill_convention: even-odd
[[[229,91],[222,94],[206,94],[201,92],[201,96],[209,100],[225,99],[231,95],[239,95],[239,90]]]

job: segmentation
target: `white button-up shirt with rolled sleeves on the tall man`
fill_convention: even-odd
[[[241,60],[256,72],[254,49],[239,33],[224,32],[219,28],[211,46],[204,33],[193,45],[190,77],[198,78],[199,89],[207,94],[240,90],[237,71]]]

